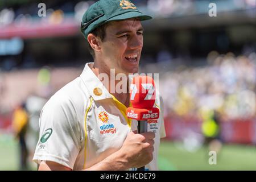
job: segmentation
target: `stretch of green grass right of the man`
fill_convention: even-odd
[[[159,148],[161,170],[256,170],[256,148],[245,145],[222,146],[217,164],[209,164],[208,147],[196,152],[183,149],[181,143],[162,141]]]

